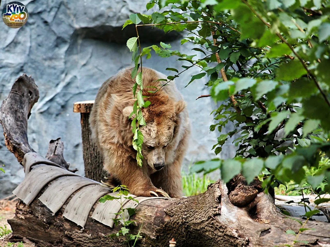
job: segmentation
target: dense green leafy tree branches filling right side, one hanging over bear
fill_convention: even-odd
[[[263,171],[265,187],[278,181],[297,187],[307,183],[314,192],[330,192],[329,166],[319,162],[330,151],[330,1],[151,0],[147,9],[154,6],[160,10],[144,15],[143,23],[164,32],[184,30],[181,44],[189,42],[194,48],[185,54],[161,42],[140,47],[138,53],[137,33],[127,45],[133,51],[132,76],[142,67],[142,57],[151,57],[151,50],[185,62],[182,69],[168,68],[176,74],[163,78],[152,92],[198,67],[188,84],[207,76],[206,86],[219,102],[210,131],[221,134],[213,149],[218,154],[228,142],[237,147],[234,159],[200,162],[197,169],[220,169],[224,181],[241,171],[251,181]],[[130,16],[137,30],[144,25],[139,16]],[[137,84],[134,96],[136,88]],[[141,108],[144,98],[139,97]],[[222,133],[230,122],[234,128]],[[143,123],[143,118],[137,119],[133,130]],[[138,134],[134,136],[140,143]]]

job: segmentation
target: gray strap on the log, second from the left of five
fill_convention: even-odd
[[[13,194],[29,205],[46,184],[62,176],[79,175],[56,166],[42,165],[36,167],[25,176],[24,180],[13,191]]]

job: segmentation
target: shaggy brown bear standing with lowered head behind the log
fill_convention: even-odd
[[[137,165],[133,149],[132,68],[119,71],[99,89],[90,115],[92,140],[103,154],[104,169],[113,178],[128,187],[136,196],[182,196],[181,164],[190,134],[186,103],[174,81],[159,88],[158,79],[165,75],[143,68],[145,100],[151,104],[142,108],[146,121],[140,126],[144,140],[142,145],[143,165]],[[139,89],[138,89],[139,90]]]

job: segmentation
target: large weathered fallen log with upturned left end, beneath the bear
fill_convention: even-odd
[[[16,80],[13,88],[19,88],[25,92],[26,87],[30,87],[31,83],[34,84],[31,77],[23,76]],[[34,101],[24,100],[23,98],[27,97],[26,94],[17,93],[10,94],[3,102],[0,121],[7,137],[7,147],[14,152],[17,159],[22,161],[24,155],[31,151],[26,148],[29,147],[26,138],[27,124],[18,130],[13,130],[15,127],[6,124],[13,124],[13,121],[16,121],[13,115],[17,113],[21,114],[17,119],[27,123],[29,110]],[[28,94],[28,97],[36,97],[38,91],[32,93],[35,95]],[[13,95],[22,97],[18,99],[21,104],[15,103],[16,99]],[[6,102],[13,103],[9,105]],[[22,111],[19,108],[29,110]],[[13,121],[6,121],[5,117]],[[35,168],[32,168],[32,171],[33,169]],[[76,177],[79,176],[76,175]],[[79,190],[73,193],[60,210],[53,214],[38,199],[51,186],[51,183],[46,185],[30,204],[18,202],[16,215],[9,220],[13,230],[12,241],[21,241],[25,237],[36,246],[127,246],[123,239],[107,237],[111,233],[116,233],[120,226],[111,228],[91,218],[99,203],[92,207],[83,228],[63,217],[68,204],[79,193]],[[136,221],[136,226],[131,228],[132,233],[137,234],[141,229],[142,238],[139,239],[137,245],[169,246],[169,241],[174,238],[177,246],[189,247],[330,246],[328,223],[309,220],[301,226],[296,220],[277,213],[273,197],[260,190],[257,184],[252,185],[253,188],[246,186],[248,185],[241,178],[234,179],[228,185],[218,180],[210,185],[205,193],[197,196],[142,202],[137,206],[135,215],[131,217]],[[243,188],[242,191],[247,191],[246,195],[240,192],[240,188]],[[236,202],[235,205],[240,201],[245,201],[245,203],[235,206],[230,198]],[[300,232],[301,228],[311,230]],[[287,230],[292,230],[296,235],[286,234]]]

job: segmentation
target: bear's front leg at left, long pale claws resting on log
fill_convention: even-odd
[[[121,184],[126,185],[129,192],[136,196],[168,196],[165,191],[156,188],[148,174],[138,167],[136,160],[132,157],[122,155],[117,159],[109,158],[114,155],[107,155],[104,159],[104,168]]]

